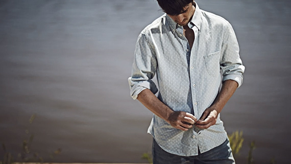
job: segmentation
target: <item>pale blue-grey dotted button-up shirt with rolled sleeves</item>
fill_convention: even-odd
[[[238,87],[241,85],[245,67],[227,20],[199,9],[196,4],[188,26],[195,34],[192,49],[183,27],[166,14],[142,30],[128,81],[130,95],[136,99],[146,88],[157,93],[152,81],[156,75],[158,99],[174,111],[189,112],[199,119],[213,103],[222,81],[234,80]],[[216,124],[208,129],[194,125],[187,131],[172,127],[154,114],[148,133],[162,149],[181,156],[198,155],[198,147],[206,152],[227,138],[220,114]]]

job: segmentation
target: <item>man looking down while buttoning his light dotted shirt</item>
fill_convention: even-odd
[[[235,163],[220,120],[245,70],[234,31],[192,0],[157,1],[165,14],[140,33],[128,79],[131,97],[154,113],[154,164]]]

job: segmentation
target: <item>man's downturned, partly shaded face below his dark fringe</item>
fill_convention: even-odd
[[[183,8],[183,10],[184,12],[181,12],[179,15],[169,15],[169,14],[167,15],[171,17],[178,25],[185,26],[192,18],[195,11],[195,7],[192,5],[192,3],[190,3],[186,5]]]

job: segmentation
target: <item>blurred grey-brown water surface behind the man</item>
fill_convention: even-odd
[[[247,163],[253,140],[255,163],[289,163],[291,1],[197,3],[232,24],[246,66],[221,116],[228,133],[243,131],[237,163]],[[17,156],[34,134],[31,151],[45,162],[147,162],[141,155],[151,151],[152,113],[132,100],[127,79],[140,31],[162,14],[155,0],[0,0],[7,151]]]

